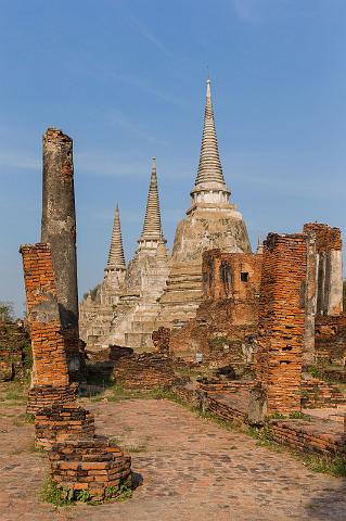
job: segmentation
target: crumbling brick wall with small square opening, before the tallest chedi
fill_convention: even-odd
[[[171,331],[171,350],[209,356],[225,344],[239,361],[240,343],[257,332],[261,255],[210,250],[202,271],[203,302],[195,319]]]

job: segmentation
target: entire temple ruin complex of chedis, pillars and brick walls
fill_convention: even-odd
[[[130,456],[97,434],[78,402],[92,389],[106,403],[107,386],[174,397],[295,449],[344,457],[346,395],[335,383],[346,382],[341,230],[308,223],[296,233],[270,232],[252,253],[229,202],[210,81],[192,203],[171,255],[153,158],[133,258],[126,265],[116,205],[104,279],[80,303],[79,320],[72,147],[61,130],[44,134],[41,242],[20,250],[33,348],[26,410],[54,486],[98,501],[132,486]],[[0,350],[2,379],[20,367],[21,353],[9,364],[8,352]]]

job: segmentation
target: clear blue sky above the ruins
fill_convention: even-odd
[[[253,245],[309,220],[345,232],[345,0],[0,0],[0,300],[23,312],[48,126],[74,138],[81,294],[103,278],[116,202],[131,258],[154,155],[172,244],[208,73]]]

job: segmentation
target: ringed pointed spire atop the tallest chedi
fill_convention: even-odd
[[[213,103],[212,103],[212,81],[207,79],[207,91],[204,113],[204,125],[202,136],[202,147],[198,164],[198,173],[195,180],[195,187],[205,182],[218,182],[223,189],[226,183],[222,175],[222,166],[219,156],[217,136],[215,129]]]

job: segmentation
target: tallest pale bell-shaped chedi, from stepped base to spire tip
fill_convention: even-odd
[[[220,249],[229,253],[251,253],[245,223],[234,204],[230,204],[219,156],[210,80],[206,103],[200,164],[192,203],[187,217],[177,227],[171,269],[161,298],[158,322],[185,322],[195,316],[202,298],[202,254]]]

